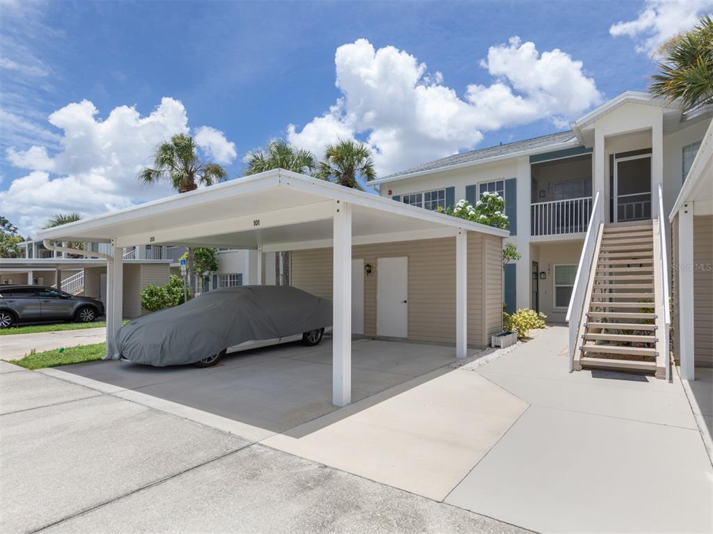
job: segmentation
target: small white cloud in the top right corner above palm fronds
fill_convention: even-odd
[[[646,0],[636,19],[612,24],[609,33],[634,38],[637,51],[655,56],[663,43],[712,11],[713,0]]]

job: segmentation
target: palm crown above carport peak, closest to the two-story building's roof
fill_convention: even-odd
[[[376,178],[371,152],[364,144],[353,139],[327,145],[324,149],[324,161],[319,163],[317,178],[344,185],[347,188],[361,189],[358,178],[370,182]]]

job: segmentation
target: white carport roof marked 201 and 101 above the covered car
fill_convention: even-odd
[[[289,250],[331,246],[337,202],[352,205],[354,244],[506,230],[456,219],[286,170],[239,178],[125,210],[71,222],[38,237],[56,241]],[[420,237],[419,237],[420,235]],[[411,237],[409,237],[411,236]]]

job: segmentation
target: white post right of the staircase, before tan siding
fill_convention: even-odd
[[[663,252],[662,252],[663,253]],[[678,332],[681,378],[693,380],[693,203],[687,202],[678,212]]]

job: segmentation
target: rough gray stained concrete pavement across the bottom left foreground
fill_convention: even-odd
[[[136,399],[0,361],[0,532],[524,532]]]

